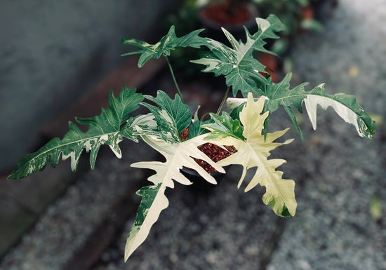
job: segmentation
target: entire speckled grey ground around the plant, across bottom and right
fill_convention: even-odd
[[[72,258],[85,239],[103,238],[93,228],[110,214],[108,205],[145,177],[128,164],[152,158],[140,145],[125,143],[124,153],[138,147],[138,154],[123,161],[102,154],[97,168],[48,208],[0,269],[386,269],[385,22],[382,0],[340,0],[324,32],[302,34],[295,42],[293,83],[325,82],[328,93],[356,95],[378,121],[373,140],[359,137],[332,110],[318,112],[316,131],[302,117],[302,141],[293,128],[288,132],[295,142],[274,156],[287,160],[281,170],[296,182],[295,217],[274,215],[263,205],[261,189],[237,189],[235,166],[212,191],[168,190],[169,207],[126,264],[134,212],[117,241],[80,266]],[[281,113],[271,118],[272,129],[291,125]]]

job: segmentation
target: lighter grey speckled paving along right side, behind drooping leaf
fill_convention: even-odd
[[[368,112],[385,117],[386,3],[341,0],[326,29],[303,36],[293,52],[298,79],[327,83],[329,93],[357,95]],[[340,119],[325,119],[296,151],[307,174],[298,190],[298,214],[288,220],[268,270],[386,269],[385,122],[363,140]],[[333,117],[333,114],[331,114]],[[293,158],[291,158],[293,163]]]

